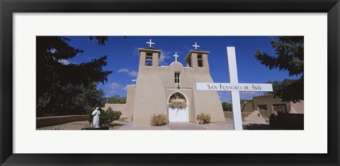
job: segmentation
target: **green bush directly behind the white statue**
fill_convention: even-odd
[[[122,112],[113,110],[111,107],[108,107],[106,110],[99,108],[99,111],[101,111],[101,114],[99,115],[100,126],[103,126],[104,124],[110,124],[112,121],[118,120],[120,115],[122,115]],[[86,110],[86,119],[89,121],[90,125],[94,121],[92,112],[94,112],[94,109],[92,108]]]

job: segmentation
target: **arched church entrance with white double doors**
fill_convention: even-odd
[[[168,98],[169,121],[188,121],[188,98],[180,91],[171,93]]]

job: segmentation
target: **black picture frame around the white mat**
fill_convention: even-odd
[[[339,0],[0,0],[1,165],[340,165]],[[13,13],[237,12],[328,13],[327,154],[17,154],[13,153]],[[326,57],[320,57],[326,58]],[[318,110],[320,111],[320,110]],[[326,110],[322,110],[326,111]]]

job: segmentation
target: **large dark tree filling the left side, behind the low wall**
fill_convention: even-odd
[[[69,46],[67,37],[39,36],[37,45],[37,116],[85,113],[87,107],[103,105],[103,90],[98,83],[107,82],[103,71],[107,56],[87,63],[65,64],[84,52]]]

